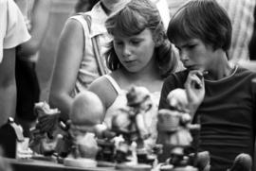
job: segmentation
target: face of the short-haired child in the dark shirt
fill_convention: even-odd
[[[180,60],[189,70],[208,70],[214,60],[212,46],[200,39],[178,40],[174,43],[179,50]]]

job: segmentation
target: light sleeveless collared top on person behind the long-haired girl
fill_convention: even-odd
[[[71,19],[77,20],[81,23],[84,38],[82,61],[75,83],[75,88],[71,94],[72,96],[86,90],[93,80],[100,77],[91,38],[98,37],[99,46],[101,47],[100,54],[104,64],[105,59],[103,54],[107,50],[106,44],[112,41],[112,38],[108,35],[104,26],[107,15],[101,8],[101,4],[98,3],[91,11],[86,12],[86,14],[91,17],[91,31],[89,31],[87,22],[83,19],[82,15],[75,15],[71,17]],[[104,68],[109,72],[106,66],[104,66]]]

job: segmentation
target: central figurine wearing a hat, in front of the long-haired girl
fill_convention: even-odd
[[[145,118],[153,106],[153,101],[144,87],[132,87],[126,97],[127,106],[116,111],[112,119],[111,130],[123,138],[116,146],[117,161],[123,163],[124,167],[144,163],[148,164],[145,167],[151,168],[150,164],[155,162],[155,152],[159,151],[160,146],[146,143],[152,132],[149,131],[151,126],[147,126]]]

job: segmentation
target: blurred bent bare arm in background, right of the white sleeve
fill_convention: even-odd
[[[46,37],[51,0],[35,0],[31,18],[31,39],[20,45],[20,55],[27,57],[35,54]],[[21,8],[21,7],[20,7]]]

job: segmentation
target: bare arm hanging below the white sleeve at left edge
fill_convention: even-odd
[[[5,49],[0,63],[0,127],[14,117],[16,108],[15,48]]]

